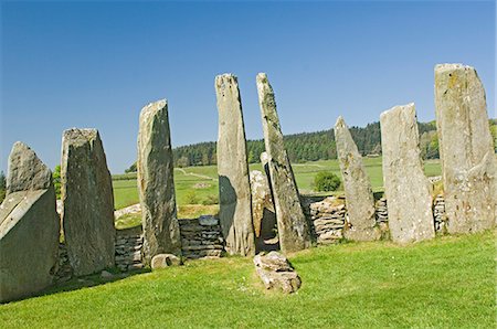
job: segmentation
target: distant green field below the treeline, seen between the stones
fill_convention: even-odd
[[[381,158],[364,158],[366,170],[374,191],[383,189]],[[319,171],[332,171],[340,176],[337,160],[321,160],[292,164],[300,193],[314,192],[314,177]],[[253,163],[250,170],[262,170],[261,163]],[[438,160],[425,162],[426,176],[440,176]],[[126,179],[130,178],[130,179]],[[136,174],[114,176],[114,199],[116,209],[138,203]],[[178,205],[213,204],[218,201],[218,168],[215,166],[175,169],[175,188]]]

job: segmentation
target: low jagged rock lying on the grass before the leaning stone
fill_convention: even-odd
[[[255,269],[266,289],[281,289],[285,294],[295,293],[300,288],[302,280],[285,256],[277,252],[254,257]]]

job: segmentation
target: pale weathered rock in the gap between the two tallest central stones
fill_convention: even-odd
[[[271,197],[269,182],[264,173],[258,170],[252,170],[251,177],[251,191],[252,191],[252,222],[254,224],[255,236],[262,235],[263,219],[266,215],[266,220],[273,213],[274,204]]]

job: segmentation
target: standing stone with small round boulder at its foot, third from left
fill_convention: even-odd
[[[162,99],[141,109],[138,132],[138,193],[146,264],[158,254],[181,255],[173,169],[168,103]]]

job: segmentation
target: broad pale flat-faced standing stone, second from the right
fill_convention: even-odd
[[[380,126],[392,240],[409,243],[432,238],[435,236],[432,197],[421,161],[414,104],[383,112]]]

